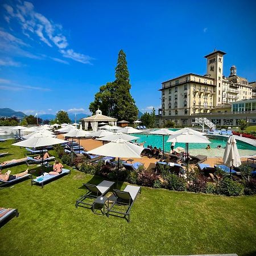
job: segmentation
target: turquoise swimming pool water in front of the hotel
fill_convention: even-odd
[[[170,129],[172,130],[172,129]],[[163,136],[162,135],[153,135],[153,134],[133,134],[136,137],[138,143],[146,142],[144,147],[147,145],[156,146],[157,148],[163,149]],[[168,136],[164,136],[164,151],[170,152],[171,150],[171,143],[166,142]],[[223,156],[226,146],[227,137],[221,138],[209,138],[211,150],[206,150],[207,143],[189,143],[189,153],[191,155],[207,155],[207,156]],[[221,145],[222,148],[217,148],[218,145]],[[183,147],[185,148],[185,143],[176,143],[175,147]],[[256,147],[247,144],[242,141],[237,140],[237,148],[239,151],[240,156],[247,156],[247,155],[255,155],[256,154]]]

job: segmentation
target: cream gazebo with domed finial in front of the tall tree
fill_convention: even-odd
[[[88,130],[88,126],[92,126],[93,131],[97,131],[98,129],[98,123],[105,122],[109,125],[117,125],[117,119],[113,117],[107,117],[106,115],[102,115],[102,112],[100,109],[96,111],[95,115],[92,115],[91,117],[86,117],[81,119],[82,127],[85,130]]]

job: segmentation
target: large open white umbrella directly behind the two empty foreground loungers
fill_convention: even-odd
[[[118,172],[119,172],[119,160],[120,158],[141,158],[141,152],[144,148],[137,146],[133,143],[127,142],[123,139],[116,139],[103,146],[94,148],[88,151],[89,154],[113,156],[118,158],[117,161],[117,184],[118,184]]]

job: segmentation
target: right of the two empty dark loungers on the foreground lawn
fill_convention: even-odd
[[[124,214],[123,217],[130,222],[130,210],[139,193],[141,193],[141,187],[133,185],[127,185],[123,191],[113,189],[113,195],[109,197],[108,205],[109,201],[113,201],[113,203],[108,207],[107,216],[109,217],[110,213]],[[119,210],[114,209],[115,206],[127,207],[127,210],[125,212],[120,212]]]

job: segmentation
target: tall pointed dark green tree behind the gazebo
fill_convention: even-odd
[[[100,92],[95,94],[94,101],[89,105],[90,111],[95,113],[100,108],[102,114],[133,122],[137,119],[138,109],[130,89],[126,55],[121,49],[115,68],[115,81],[100,87]]]

